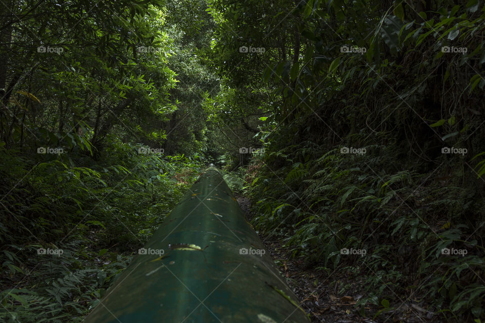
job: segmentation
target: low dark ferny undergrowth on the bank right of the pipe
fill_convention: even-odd
[[[419,173],[396,162],[395,145],[360,147],[365,153],[309,141],[268,147],[248,172],[256,229],[328,276],[364,277],[362,314],[366,304],[386,312],[424,301],[445,320],[482,318],[480,179],[446,155]]]

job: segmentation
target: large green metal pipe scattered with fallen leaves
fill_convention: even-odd
[[[86,323],[309,321],[213,165],[138,253]]]

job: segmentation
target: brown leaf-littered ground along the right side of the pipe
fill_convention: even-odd
[[[246,219],[251,221],[251,200],[243,195],[234,195]],[[303,260],[291,257],[289,248],[280,241],[268,241],[261,235],[260,238],[302,307],[310,314],[312,323],[441,322],[438,315],[424,309],[427,306],[410,300],[403,300],[400,306],[390,307],[385,312],[382,306],[366,305],[365,315],[362,316],[355,308],[356,302],[365,294],[362,277],[350,277],[345,272],[327,275],[316,270],[319,264],[305,266]],[[349,292],[342,294],[342,286]],[[377,315],[379,310],[382,311]]]

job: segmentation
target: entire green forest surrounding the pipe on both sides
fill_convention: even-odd
[[[213,163],[312,322],[485,322],[484,86],[481,0],[0,0],[0,321],[82,322]]]

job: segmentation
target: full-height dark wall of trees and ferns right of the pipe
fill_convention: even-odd
[[[362,314],[417,300],[483,318],[483,4],[211,6],[216,65],[266,113],[257,228],[329,280],[348,273],[341,295],[359,282]]]

